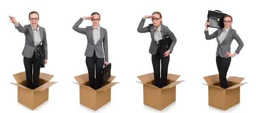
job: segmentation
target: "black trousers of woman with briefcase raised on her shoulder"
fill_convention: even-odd
[[[227,71],[230,66],[231,57],[223,58],[219,55],[216,57],[216,64],[219,72],[219,79],[221,82],[221,88],[228,88],[227,86]]]

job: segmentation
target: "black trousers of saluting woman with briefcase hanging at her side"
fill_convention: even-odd
[[[95,51],[93,57],[86,57],[85,59],[88,74],[89,74],[89,86],[95,90],[101,88],[101,70],[104,65],[104,58],[96,57]],[[96,79],[94,78],[96,76]],[[95,84],[94,84],[95,79]]]

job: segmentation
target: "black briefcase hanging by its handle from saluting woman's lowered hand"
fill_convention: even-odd
[[[111,63],[104,65],[101,71],[101,84],[104,85],[111,76]]]

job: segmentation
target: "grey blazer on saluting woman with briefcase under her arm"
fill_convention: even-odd
[[[158,44],[157,42],[154,40],[154,25],[153,24],[149,24],[147,27],[144,27],[144,23],[145,23],[145,19],[142,18],[141,21],[140,21],[140,24],[137,28],[137,31],[139,33],[146,33],[146,32],[150,32],[151,34],[151,44],[150,44],[150,47],[149,47],[149,53],[152,54],[152,55],[155,55],[157,53],[157,48],[158,48]],[[171,43],[171,46],[169,48],[170,51],[173,51],[173,48],[177,42],[177,39],[175,37],[175,35],[172,33],[172,31],[170,31],[170,29],[165,26],[165,25],[161,25],[161,34],[162,34],[162,38],[164,35],[168,35],[171,40],[172,40],[172,43]]]

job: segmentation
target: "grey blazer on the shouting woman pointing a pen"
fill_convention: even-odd
[[[23,57],[26,58],[32,58],[33,54],[35,52],[35,45],[34,45],[34,36],[33,36],[33,31],[31,28],[31,25],[24,25],[24,27],[22,25],[19,25],[15,28],[17,28],[17,30],[20,33],[25,34],[25,47],[23,48],[22,51],[22,55]],[[48,59],[48,49],[47,49],[47,39],[46,39],[46,32],[45,29],[41,26],[39,26],[39,32],[40,32],[40,37],[41,37],[41,42],[42,46],[44,48],[44,59]],[[35,53],[36,54],[36,53]],[[35,55],[35,57],[38,58],[37,55]]]

